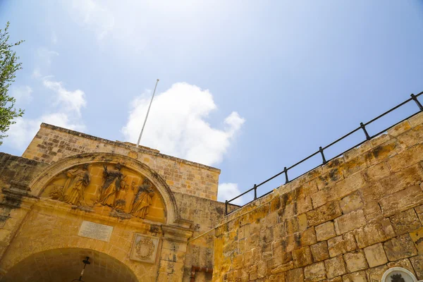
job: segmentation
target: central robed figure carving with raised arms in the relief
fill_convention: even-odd
[[[103,177],[104,183],[102,185],[102,193],[100,195],[100,203],[109,207],[114,206],[116,192],[121,189],[121,181],[123,180],[123,173],[121,173],[121,164],[116,164],[115,170],[108,171],[107,166],[104,165]]]

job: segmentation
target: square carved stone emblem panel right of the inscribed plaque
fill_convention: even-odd
[[[130,259],[154,263],[159,247],[159,238],[135,233]]]

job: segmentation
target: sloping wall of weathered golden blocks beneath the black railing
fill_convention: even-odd
[[[214,281],[423,279],[423,114],[226,216]]]

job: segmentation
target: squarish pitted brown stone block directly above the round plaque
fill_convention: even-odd
[[[390,262],[417,255],[416,247],[408,234],[388,240],[384,243],[384,249]]]

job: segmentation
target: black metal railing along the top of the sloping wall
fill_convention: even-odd
[[[247,193],[249,193],[249,192],[251,192],[251,191],[254,191],[254,199],[253,199],[252,201],[250,201],[250,202],[253,202],[253,201],[257,200],[258,198],[260,198],[260,197],[264,197],[265,195],[268,195],[269,193],[271,193],[271,192],[272,192],[272,190],[271,190],[271,191],[269,191],[269,192],[266,192],[264,195],[262,195],[262,196],[260,196],[260,197],[257,197],[257,188],[259,188],[260,186],[262,186],[262,185],[263,185],[263,184],[265,184],[265,183],[268,183],[270,180],[273,180],[274,178],[276,178],[276,177],[278,177],[278,176],[281,176],[281,174],[285,174],[285,184],[286,184],[286,183],[289,183],[290,181],[295,180],[296,178],[298,178],[298,177],[300,177],[300,176],[305,175],[305,173],[308,173],[309,171],[312,171],[313,169],[315,169],[315,168],[317,168],[317,167],[319,167],[319,166],[321,166],[321,165],[326,164],[328,161],[331,161],[332,159],[336,159],[336,158],[338,158],[338,157],[341,157],[343,154],[345,154],[345,152],[348,152],[350,149],[353,149],[353,148],[355,148],[355,147],[357,147],[357,146],[360,146],[360,145],[362,145],[364,142],[366,142],[366,141],[368,141],[368,140],[371,140],[372,138],[374,138],[374,137],[376,137],[376,136],[378,136],[378,135],[381,135],[381,133],[384,133],[384,132],[386,132],[386,130],[388,130],[388,129],[390,129],[390,128],[393,128],[394,126],[398,125],[398,123],[402,123],[403,121],[407,120],[408,118],[411,118],[412,116],[415,116],[416,114],[419,114],[419,112],[423,111],[423,106],[422,106],[422,104],[420,104],[420,102],[419,102],[419,100],[417,99],[417,97],[419,97],[419,96],[420,96],[420,95],[422,95],[422,94],[423,94],[423,92],[420,92],[420,93],[419,93],[419,94],[417,94],[417,95],[415,95],[415,94],[411,94],[411,98],[410,98],[410,99],[407,99],[406,101],[402,102],[401,104],[398,104],[397,106],[394,106],[392,109],[390,109],[390,110],[388,110],[388,111],[384,112],[384,114],[381,114],[381,115],[379,115],[379,116],[376,116],[376,118],[373,118],[373,119],[372,119],[372,121],[368,121],[367,123],[360,123],[360,126],[359,126],[358,128],[355,128],[355,130],[351,131],[350,133],[348,133],[348,134],[346,134],[346,135],[343,135],[343,137],[339,138],[338,140],[331,142],[331,144],[327,145],[326,147],[319,147],[319,150],[318,150],[317,152],[314,152],[313,154],[309,155],[309,157],[306,157],[305,159],[302,159],[301,161],[298,161],[298,163],[293,164],[292,166],[290,166],[290,167],[288,167],[288,168],[287,168],[287,167],[284,167],[284,168],[283,168],[283,171],[281,171],[280,173],[277,173],[276,175],[272,176],[271,178],[269,178],[269,179],[267,179],[267,180],[264,180],[262,183],[259,183],[259,184],[257,184],[257,185],[255,184],[255,185],[254,185],[254,186],[253,186],[250,190],[247,190],[247,191],[243,192],[242,194],[240,194],[240,195],[238,195],[238,196],[234,197],[233,199],[231,199],[231,200],[226,200],[226,201],[225,201],[225,213],[226,213],[226,214],[230,214],[231,212],[233,212],[233,211],[235,210],[235,209],[233,209],[231,212],[229,212],[229,213],[228,213],[228,204],[229,204],[230,202],[232,202],[233,200],[238,199],[239,197],[242,197],[243,195],[245,195],[245,194],[247,194]],[[366,126],[367,126],[367,125],[369,125],[370,123],[373,123],[374,121],[378,120],[378,119],[379,119],[379,118],[381,118],[382,116],[386,116],[387,114],[391,113],[391,111],[395,111],[395,110],[396,110],[396,109],[398,109],[400,106],[404,106],[405,104],[407,104],[407,103],[408,103],[408,102],[410,102],[410,101],[414,101],[414,102],[417,104],[417,106],[419,107],[419,111],[415,112],[415,114],[412,114],[411,116],[408,116],[407,118],[404,118],[404,119],[403,119],[403,120],[401,120],[401,121],[398,121],[398,123],[395,123],[395,124],[393,124],[393,125],[389,126],[388,128],[385,128],[384,130],[381,130],[379,133],[376,133],[376,134],[374,134],[374,135],[372,135],[372,136],[370,136],[370,135],[369,135],[369,133],[367,132],[367,129],[366,129]],[[346,150],[345,150],[345,151],[343,151],[341,154],[338,154],[338,155],[336,155],[335,157],[333,157],[333,158],[331,158],[331,159],[329,159],[329,160],[326,160],[326,157],[324,156],[324,150],[325,150],[325,149],[328,149],[329,147],[331,147],[331,146],[335,145],[336,143],[338,143],[338,142],[340,142],[341,140],[345,139],[346,137],[348,137],[348,136],[352,135],[353,133],[356,133],[356,132],[357,132],[357,131],[359,131],[359,130],[363,130],[363,133],[364,133],[364,135],[365,135],[365,137],[366,137],[366,140],[363,140],[362,142],[360,142],[360,143],[358,143],[358,144],[354,145],[353,147],[350,147],[349,149],[346,149]],[[319,164],[319,166],[316,166],[316,167],[314,167],[314,168],[310,169],[309,171],[306,171],[305,173],[302,173],[300,176],[297,176],[296,178],[294,178],[294,179],[292,179],[292,180],[289,180],[289,178],[288,178],[288,171],[289,171],[290,169],[294,168],[295,166],[298,166],[299,164],[302,164],[303,162],[305,162],[305,161],[307,161],[308,159],[310,159],[310,158],[312,158],[312,157],[316,156],[317,154],[321,154],[321,159],[322,159],[322,163],[321,163],[321,164]],[[250,202],[247,202],[246,204],[250,204]],[[245,205],[245,204],[243,204],[243,205]],[[242,207],[242,206],[240,206],[240,207]]]

